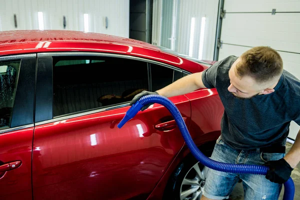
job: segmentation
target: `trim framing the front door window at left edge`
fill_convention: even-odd
[[[4,55],[4,56],[0,56],[0,61],[5,61],[5,60],[16,60],[16,59],[20,59],[21,62],[20,62],[20,69],[19,69],[19,72],[18,72],[18,77],[17,77],[17,81],[16,81],[16,92],[18,91],[18,84],[19,84],[19,76],[20,76],[20,73],[21,73],[21,68],[22,68],[22,59],[24,58],[35,58],[36,59],[36,53],[28,53],[28,54],[17,54],[17,55]],[[36,62],[35,62],[36,63]],[[36,65],[34,66],[34,70],[36,68]],[[34,76],[34,82],[35,82],[35,73],[32,74]],[[33,85],[33,90],[35,90],[35,85]],[[24,128],[29,128],[29,127],[33,127],[34,126],[34,123],[33,123],[33,117],[32,117],[32,123],[28,123],[28,124],[21,124],[21,125],[16,125],[14,127],[11,127],[11,124],[12,124],[12,120],[15,120],[15,117],[16,115],[18,115],[18,113],[15,113],[15,104],[16,104],[16,95],[17,93],[15,94],[15,97],[14,97],[14,100],[13,100],[13,107],[12,107],[12,114],[10,116],[10,124],[9,126],[3,126],[0,128],[0,134],[2,133],[5,133],[5,132],[11,132],[11,131],[16,131],[16,130],[20,130],[20,129],[24,129]],[[33,95],[33,107],[32,107],[32,111],[34,113],[34,95]]]

